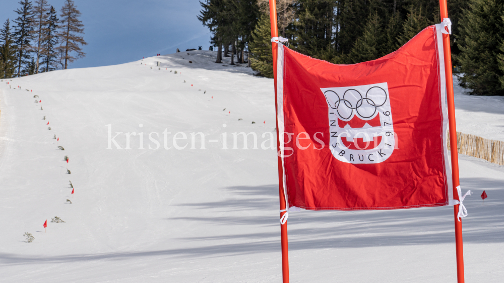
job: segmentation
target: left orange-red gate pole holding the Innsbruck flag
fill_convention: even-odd
[[[271,23],[271,37],[278,37],[278,25],[277,25],[277,5],[275,0],[270,0],[270,23]],[[272,42],[273,48],[273,78],[275,83],[275,118],[278,117],[278,102],[277,102],[277,50],[276,42]],[[280,82],[282,83],[282,82]],[[280,139],[278,134],[278,119],[276,119],[277,125],[277,149],[280,150]],[[285,193],[283,187],[283,168],[282,168],[282,158],[278,154],[278,187],[280,196],[280,210],[285,210],[287,204],[285,203]],[[281,212],[280,217],[287,212]],[[287,240],[287,222],[280,224],[280,238],[282,241],[282,278],[283,283],[289,283],[289,243]]]

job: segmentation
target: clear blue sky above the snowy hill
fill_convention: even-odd
[[[19,0],[2,1],[1,24],[17,18]],[[33,0],[32,0],[33,2]],[[64,0],[47,0],[58,11]],[[174,53],[176,48],[208,50],[210,32],[196,18],[198,0],[74,0],[81,11],[86,57],[70,68],[96,67],[126,63]],[[34,3],[32,3],[34,4]]]

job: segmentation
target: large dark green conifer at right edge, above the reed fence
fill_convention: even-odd
[[[472,89],[473,95],[502,96],[501,50],[504,36],[504,1],[473,0],[461,20],[458,46],[462,53],[460,85]],[[458,37],[459,38],[459,37]],[[500,68],[499,68],[499,59]]]

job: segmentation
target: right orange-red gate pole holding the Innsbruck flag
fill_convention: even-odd
[[[447,0],[439,0],[441,20],[448,18]],[[443,34],[443,52],[445,54],[446,90],[448,100],[448,125],[450,127],[450,153],[452,156],[453,196],[458,199],[457,186],[459,182],[459,156],[457,150],[457,129],[455,127],[455,102],[453,98],[452,53],[450,50],[450,35]],[[462,222],[458,220],[459,206],[454,205],[455,214],[455,249],[457,252],[457,283],[464,283],[464,250],[462,247]]]

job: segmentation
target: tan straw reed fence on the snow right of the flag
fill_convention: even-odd
[[[450,134],[448,134],[450,150]],[[504,142],[457,132],[457,146],[460,154],[482,158],[495,164],[504,165]]]

